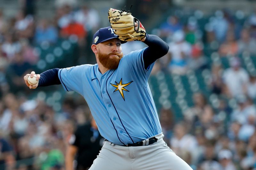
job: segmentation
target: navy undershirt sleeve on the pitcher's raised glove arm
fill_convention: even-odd
[[[146,40],[143,42],[148,45],[143,52],[144,69],[147,70],[150,64],[167,54],[169,46],[158,36],[150,34],[146,34]]]

